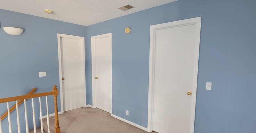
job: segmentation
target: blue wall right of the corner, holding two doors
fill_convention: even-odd
[[[202,17],[195,133],[255,132],[255,7],[254,0],[179,0],[87,26],[87,104],[91,37],[112,33],[113,114],[147,127],[150,25]]]

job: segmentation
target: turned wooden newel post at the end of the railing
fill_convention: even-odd
[[[53,91],[53,97],[54,97],[54,113],[55,113],[55,131],[54,131],[54,133],[60,133],[58,104],[57,104],[57,96],[59,95],[59,90],[57,89],[57,86],[53,86],[52,91]]]

